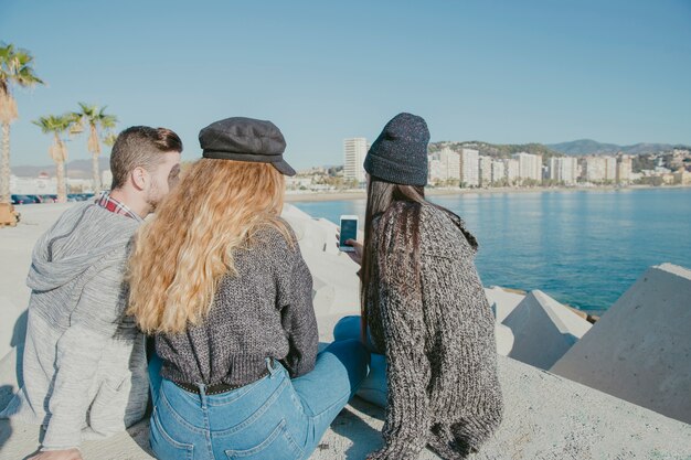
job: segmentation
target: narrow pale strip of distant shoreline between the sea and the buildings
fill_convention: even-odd
[[[628,185],[628,186],[551,186],[551,188],[492,188],[492,189],[425,189],[427,196],[448,196],[448,195],[467,195],[467,194],[497,194],[497,193],[545,193],[545,192],[613,192],[613,191],[629,191],[629,190],[670,190],[670,189],[691,189],[691,185]],[[290,193],[285,195],[286,203],[312,203],[323,201],[355,201],[366,199],[365,190],[344,190],[338,192],[307,192],[307,193]]]

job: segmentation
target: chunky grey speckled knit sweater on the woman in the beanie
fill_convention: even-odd
[[[430,205],[419,218],[419,282],[403,250],[412,222],[395,229],[397,203],[375,221],[380,250],[379,309],[368,319],[385,352],[387,406],[384,447],[369,459],[416,459],[428,445],[444,459],[464,459],[501,422],[495,321],[474,265],[475,238],[460,220]],[[383,245],[383,246],[381,246]]]

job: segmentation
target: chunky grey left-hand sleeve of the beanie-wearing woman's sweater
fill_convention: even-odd
[[[411,286],[411,271],[400,258],[385,257],[380,266],[395,267],[381,281],[381,322],[387,373],[384,447],[368,459],[416,459],[429,431],[429,362],[425,355],[425,324],[419,288]]]

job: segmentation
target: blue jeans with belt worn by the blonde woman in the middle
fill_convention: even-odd
[[[306,459],[366,377],[369,360],[359,341],[332,343],[309,374],[290,379],[267,360],[269,375],[219,395],[157,378],[151,449],[164,460]]]

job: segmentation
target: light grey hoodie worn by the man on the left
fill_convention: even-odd
[[[21,388],[0,417],[43,425],[44,450],[78,447],[143,416],[145,338],[123,314],[123,275],[138,225],[79,204],[34,247]]]

